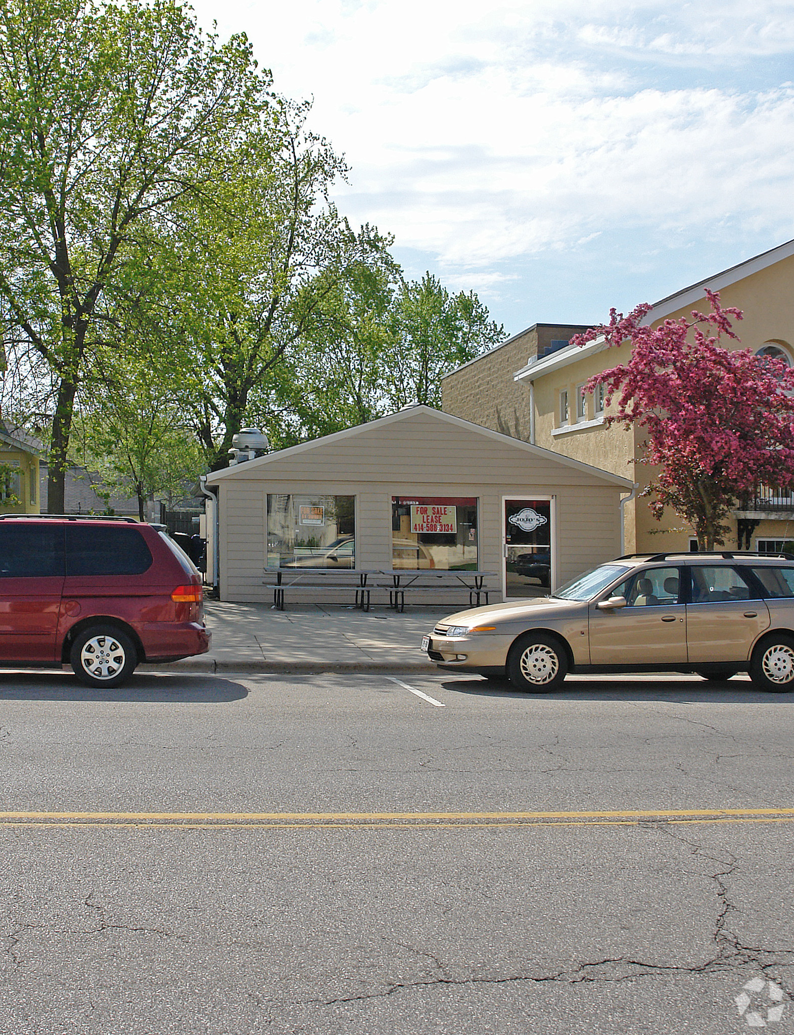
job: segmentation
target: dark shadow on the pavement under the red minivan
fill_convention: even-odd
[[[229,704],[248,696],[231,679],[211,675],[136,673],[125,686],[94,690],[69,672],[4,672],[0,701],[96,701],[156,704]]]

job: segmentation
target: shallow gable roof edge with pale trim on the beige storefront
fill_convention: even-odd
[[[419,417],[422,419],[430,417],[431,419],[438,420],[442,424],[451,424],[459,428],[466,430],[469,433],[479,435],[484,439],[491,439],[500,443],[502,446],[508,446],[511,449],[522,451],[530,456],[536,456],[545,463],[553,463],[562,467],[567,467],[583,474],[588,474],[600,481],[609,482],[613,485],[620,485],[626,490],[630,490],[634,485],[634,482],[628,478],[621,478],[617,474],[612,474],[609,471],[602,471],[600,468],[592,467],[590,464],[583,464],[581,461],[570,460],[568,456],[563,456],[560,453],[554,452],[552,449],[542,449],[540,446],[530,445],[528,442],[522,442],[520,439],[513,439],[509,435],[502,435],[500,432],[491,431],[490,427],[482,427],[480,424],[474,424],[470,420],[464,420],[462,417],[454,417],[451,413],[443,413],[441,410],[434,410],[432,407],[423,405],[410,406],[404,410],[398,411],[396,413],[389,414],[387,417],[380,417],[377,420],[371,420],[365,424],[356,424],[354,427],[348,427],[343,432],[334,432],[332,435],[324,435],[322,438],[314,439],[311,442],[301,442],[300,445],[297,446],[289,446],[287,449],[278,449],[276,452],[268,453],[265,456],[259,456],[257,460],[246,461],[243,464],[237,464],[235,467],[225,468],[222,471],[212,471],[207,475],[206,484],[213,485],[220,481],[234,479],[239,476],[249,478],[252,473],[256,471],[259,471],[263,476],[266,476],[265,469],[271,464],[277,464],[293,456],[298,456],[301,453],[311,452],[314,449],[321,449],[328,445],[345,443],[359,435],[385,431],[393,424],[402,421],[416,420]]]

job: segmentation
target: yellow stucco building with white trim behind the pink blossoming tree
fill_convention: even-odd
[[[689,317],[694,308],[708,312],[706,289],[718,291],[723,305],[736,306],[744,314],[743,320],[734,325],[740,342],[724,339],[721,344],[725,348],[765,351],[794,366],[794,241],[663,298],[648,314],[646,322],[657,326],[667,319]],[[608,348],[602,342],[593,342],[584,348],[560,345],[546,355],[530,355],[513,372],[513,384],[510,385],[511,391],[523,386],[527,394],[529,433],[523,430],[522,437],[572,460],[633,478],[638,483],[638,497],[624,506],[626,552],[689,550],[693,530],[683,527],[673,512],[668,512],[661,523],[657,522],[647,499],[639,495],[651,473],[651,469],[635,463],[642,454],[642,431],[608,426],[602,395],[582,397],[581,388],[588,378],[625,362],[628,350],[627,344]],[[489,425],[488,417],[493,410],[493,401],[487,397],[493,381],[489,374],[497,363],[503,366],[497,359],[498,352],[498,349],[492,350],[444,379],[444,410]],[[469,389],[465,395],[459,389],[464,380]],[[479,398],[471,390],[473,381],[481,386]],[[789,549],[794,549],[792,493],[759,486],[745,507],[735,512],[733,541],[729,538],[726,546],[772,551],[789,542]]]

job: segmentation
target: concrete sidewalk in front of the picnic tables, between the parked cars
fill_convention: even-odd
[[[289,607],[289,605],[288,605]],[[446,608],[355,608],[295,604],[274,611],[267,603],[205,600],[212,632],[208,654],[173,664],[180,672],[436,672],[421,651],[421,638]],[[148,666],[143,668],[149,668]]]

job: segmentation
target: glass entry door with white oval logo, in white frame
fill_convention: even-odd
[[[552,501],[504,501],[505,597],[547,596],[552,584]]]

